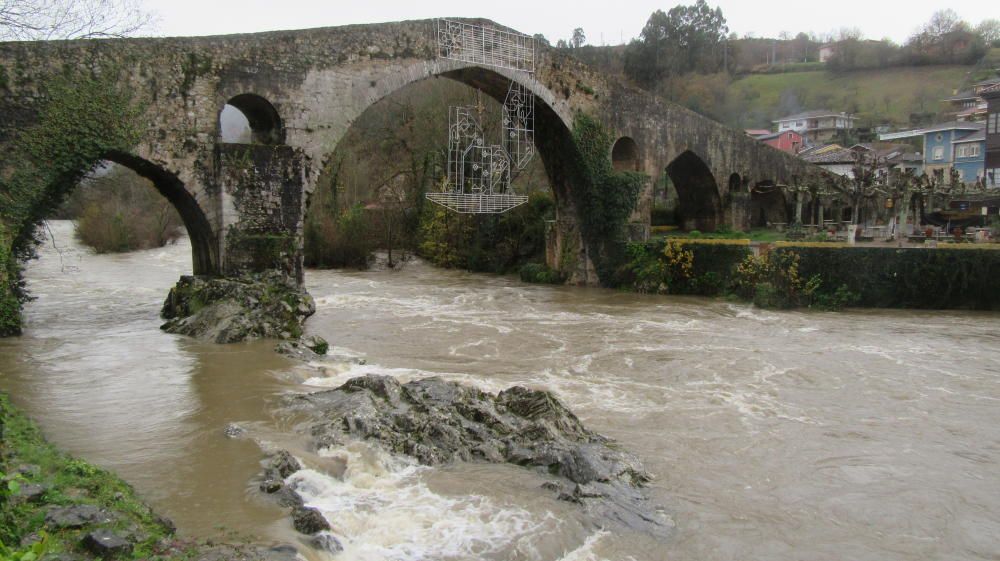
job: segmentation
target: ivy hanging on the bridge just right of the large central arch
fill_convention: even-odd
[[[626,259],[625,225],[639,202],[648,176],[615,171],[611,134],[594,118],[579,113],[573,121],[576,151],[572,197],[580,230],[597,274],[604,284]]]

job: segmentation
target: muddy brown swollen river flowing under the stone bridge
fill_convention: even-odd
[[[93,255],[53,222],[0,389],[59,446],[120,473],[184,535],[295,539],[251,479],[287,448],[345,560],[996,559],[1000,315],[770,312],[444,271],[308,271],[331,357],[159,331],[184,240]],[[364,373],[555,392],[635,453],[667,543],[590,527],[512,466],[428,469],[364,444],[310,456],[281,404]],[[252,438],[230,439],[229,423]],[[315,461],[313,461],[315,460]],[[321,558],[322,555],[310,554]]]

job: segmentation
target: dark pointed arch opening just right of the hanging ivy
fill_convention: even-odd
[[[722,201],[715,176],[705,161],[685,150],[667,165],[677,190],[677,218],[685,230],[714,231],[722,221]]]

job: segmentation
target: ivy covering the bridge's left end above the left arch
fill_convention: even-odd
[[[44,101],[33,126],[20,132],[0,155],[0,336],[17,333],[23,301],[17,260],[33,253],[42,220],[70,190],[112,152],[131,152],[139,143],[142,107],[124,86],[122,73],[94,67],[67,71],[41,88]],[[13,314],[13,315],[10,315]]]

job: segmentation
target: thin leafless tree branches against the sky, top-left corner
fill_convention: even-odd
[[[139,0],[0,0],[0,40],[125,37],[148,29]]]

